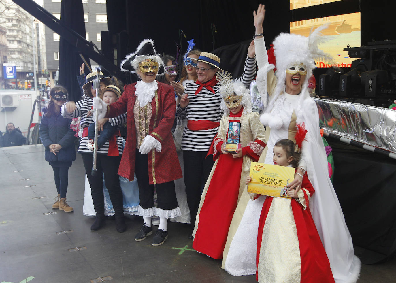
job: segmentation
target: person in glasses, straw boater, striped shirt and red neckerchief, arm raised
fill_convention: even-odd
[[[249,53],[254,45],[249,46]],[[216,73],[220,68],[220,58],[213,53],[202,52],[197,61],[196,72],[198,80],[185,87],[183,97],[177,105],[177,114],[182,119],[188,119],[183,132],[182,147],[184,161],[184,180],[186,185],[187,203],[190,208],[191,232],[195,226],[195,218],[201,199],[201,188],[208,180],[213,167],[213,155],[208,150],[219,129],[223,110],[219,82]],[[244,74],[235,81],[242,81],[249,86],[256,69],[255,58],[247,57]],[[213,150],[212,150],[213,151]]]

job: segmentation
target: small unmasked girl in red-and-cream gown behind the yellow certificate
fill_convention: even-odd
[[[274,164],[297,167],[300,152],[295,147],[288,139],[276,142]],[[250,180],[247,177],[246,182]],[[308,207],[314,192],[305,173],[297,193],[295,189],[287,190],[291,199],[265,198],[257,235],[256,279],[260,283],[334,283],[329,259]]]

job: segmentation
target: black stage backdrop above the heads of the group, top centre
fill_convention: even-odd
[[[212,52],[214,47],[213,53],[221,58],[220,66],[235,78],[242,75],[247,47],[255,32],[253,11],[260,3],[267,9],[264,30],[269,44],[280,32],[289,32],[289,0],[153,1],[150,7],[145,1],[112,0],[107,2],[108,28],[111,34],[121,32],[121,38],[128,37],[128,42],[120,40],[118,53],[122,59],[146,38],[154,40],[161,55],[175,56],[176,43],[181,43],[184,55],[187,41],[193,38],[195,48],[201,51]]]

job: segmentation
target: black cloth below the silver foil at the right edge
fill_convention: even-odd
[[[385,261],[396,250],[396,162],[326,139],[333,148],[334,189],[362,263]]]

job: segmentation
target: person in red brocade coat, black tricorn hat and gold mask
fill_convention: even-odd
[[[94,108],[109,118],[127,112],[128,137],[118,174],[133,180],[136,173],[139,184],[139,214],[144,224],[135,241],[143,241],[152,234],[151,217],[158,216],[160,225],[151,243],[157,246],[168,237],[168,218],[180,216],[174,180],[181,178],[182,173],[171,133],[176,108],[174,90],[155,80],[163,63],[152,54],[156,54],[152,40],[143,41],[121,63],[121,70],[137,72],[142,80],[126,85],[116,103],[105,106],[95,99]]]

